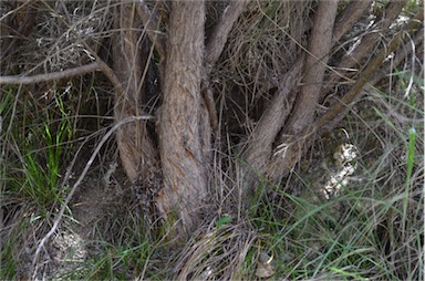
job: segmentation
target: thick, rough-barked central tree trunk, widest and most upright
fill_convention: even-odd
[[[203,152],[206,144],[201,142],[203,131],[207,128],[200,125],[201,115],[206,114],[200,95],[204,6],[203,1],[172,2],[158,122],[164,188],[157,205],[168,222],[179,225],[180,235],[199,221],[207,195]]]

